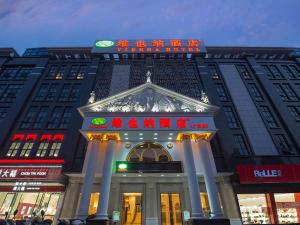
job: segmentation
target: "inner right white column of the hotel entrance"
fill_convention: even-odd
[[[191,199],[192,219],[199,219],[203,217],[203,209],[200,199],[199,184],[195,169],[194,156],[192,152],[191,140],[183,139],[183,152],[184,152],[184,164],[185,172],[188,177],[189,192]]]

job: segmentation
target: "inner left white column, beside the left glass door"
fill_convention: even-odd
[[[102,169],[102,178],[100,185],[100,199],[98,203],[98,209],[95,220],[108,220],[108,203],[109,203],[109,192],[110,192],[110,184],[111,184],[111,176],[113,172],[113,156],[116,148],[115,140],[108,140],[105,156],[104,156],[104,164]]]

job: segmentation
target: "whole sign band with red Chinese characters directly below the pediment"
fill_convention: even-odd
[[[98,130],[208,130],[214,129],[209,117],[96,117],[86,118],[83,129]]]

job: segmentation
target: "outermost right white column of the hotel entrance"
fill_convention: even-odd
[[[210,143],[205,140],[198,140],[199,143],[199,154],[200,154],[200,162],[203,165],[203,174],[204,174],[204,181],[205,187],[208,194],[209,205],[212,213],[212,217],[215,218],[223,218],[223,212],[221,209],[219,196],[218,196],[218,189],[216,185],[216,180],[214,176],[214,168],[210,160]]]

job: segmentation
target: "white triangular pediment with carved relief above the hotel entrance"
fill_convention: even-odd
[[[218,107],[147,82],[80,107],[78,110],[83,116],[91,112],[206,112],[214,114]]]

